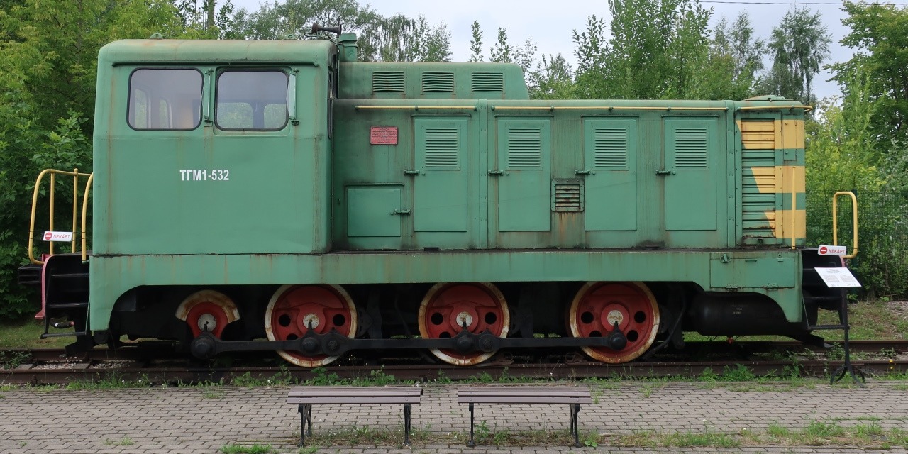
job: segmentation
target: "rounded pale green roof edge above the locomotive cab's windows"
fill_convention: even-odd
[[[126,39],[106,44],[99,64],[327,64],[335,44],[321,40]]]

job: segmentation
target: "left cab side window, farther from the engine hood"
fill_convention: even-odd
[[[202,73],[178,68],[133,71],[127,112],[133,129],[197,128],[202,118]]]

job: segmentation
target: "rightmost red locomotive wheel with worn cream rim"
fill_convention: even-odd
[[[621,363],[642,355],[656,340],[659,331],[659,306],[643,282],[587,282],[568,311],[568,324],[574,337],[602,337],[615,329],[627,337],[622,350],[583,347],[594,360]]]

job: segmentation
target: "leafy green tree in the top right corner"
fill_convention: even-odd
[[[846,104],[854,91],[867,91],[866,100],[877,106],[870,125],[873,148],[887,153],[908,138],[908,7],[845,3],[844,10],[848,17],[842,23],[851,31],[842,44],[855,52],[849,61],[831,65],[834,79]],[[854,74],[864,74],[866,84],[854,84]]]

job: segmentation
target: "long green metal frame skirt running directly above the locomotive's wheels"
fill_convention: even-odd
[[[780,275],[800,281],[800,256],[784,252],[723,252],[731,265],[709,251],[461,251],[340,252],[328,254],[192,254],[93,257],[93,276],[117,276],[104,285],[93,281],[93,330],[107,327],[106,315],[123,292],[142,285],[252,285],[284,283],[360,284],[381,282],[477,281],[691,281],[704,290],[727,291],[723,276],[742,272],[735,264],[759,263],[745,287],[770,296],[789,321],[800,321],[800,289],[785,288]],[[721,253],[719,254],[721,256]],[[782,260],[778,266],[777,261]],[[762,266],[772,263],[772,266]],[[718,276],[711,287],[714,271]],[[728,268],[729,271],[725,271]],[[740,274],[739,274],[740,275]],[[738,282],[738,281],[735,281]],[[766,289],[768,283],[778,289]]]

